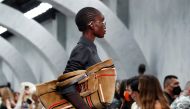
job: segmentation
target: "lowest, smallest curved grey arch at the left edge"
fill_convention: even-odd
[[[37,79],[32,72],[32,69],[29,67],[23,56],[1,36],[0,43],[0,57],[12,69],[19,82],[29,81],[37,83]]]

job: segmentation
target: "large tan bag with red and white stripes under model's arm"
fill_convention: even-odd
[[[116,81],[116,71],[112,60],[106,60],[95,64],[87,70],[79,70],[67,73],[47,83],[36,85],[37,95],[46,109],[68,109],[74,108],[61,95],[56,92],[56,87],[65,87],[75,82],[77,90],[84,101],[91,108],[101,109],[104,105],[111,104]]]

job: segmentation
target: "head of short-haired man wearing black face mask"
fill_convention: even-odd
[[[167,75],[164,78],[164,91],[168,93],[171,97],[180,94],[181,88],[177,76]]]

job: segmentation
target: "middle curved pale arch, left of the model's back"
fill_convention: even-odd
[[[0,24],[31,43],[55,74],[60,74],[64,70],[63,66],[66,65],[65,60],[67,60],[64,48],[45,28],[4,4],[0,4],[0,13]]]

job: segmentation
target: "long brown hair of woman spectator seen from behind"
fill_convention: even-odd
[[[141,109],[169,109],[160,82],[155,76],[140,76],[138,89]]]

